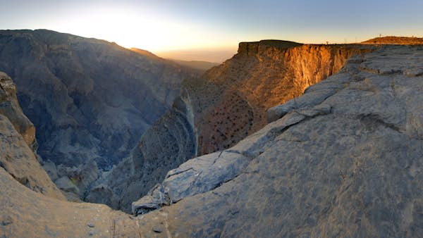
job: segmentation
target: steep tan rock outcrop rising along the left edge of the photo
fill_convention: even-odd
[[[66,200],[51,182],[34,153],[35,127],[16,99],[16,85],[0,72],[0,167],[35,192]]]

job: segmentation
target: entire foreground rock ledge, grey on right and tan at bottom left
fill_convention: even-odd
[[[50,199],[0,168],[0,234],[419,237],[422,62],[422,46],[351,58],[295,104],[271,108],[261,130],[169,171],[133,204],[137,217]]]

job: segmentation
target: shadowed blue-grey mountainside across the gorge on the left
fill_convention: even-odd
[[[0,70],[18,85],[38,153],[67,167],[128,156],[192,76],[154,55],[49,30],[0,31]]]

